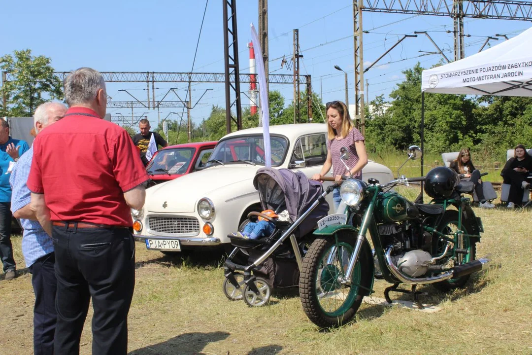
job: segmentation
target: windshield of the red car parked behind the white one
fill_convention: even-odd
[[[185,174],[194,157],[195,148],[174,148],[159,151],[149,162],[149,174]]]

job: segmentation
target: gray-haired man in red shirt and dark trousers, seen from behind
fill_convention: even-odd
[[[54,351],[79,353],[92,297],[93,354],[126,354],[135,287],[130,208],[144,205],[148,176],[127,132],[102,119],[101,73],[71,72],[64,95],[69,110],[35,139],[27,183],[31,210],[55,249]]]

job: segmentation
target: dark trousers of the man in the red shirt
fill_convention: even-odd
[[[93,354],[127,353],[127,317],[135,288],[135,242],[126,228],[53,226],[57,277],[54,351],[79,354],[93,300]]]

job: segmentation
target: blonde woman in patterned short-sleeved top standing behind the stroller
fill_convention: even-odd
[[[368,163],[368,155],[365,151],[364,137],[358,129],[353,126],[347,106],[342,101],[328,102],[327,110],[327,160],[321,168],[320,174],[315,174],[312,179],[320,180],[332,167],[332,175],[335,180],[342,180],[342,175],[351,175],[355,179],[362,180],[362,168]],[[346,161],[348,167],[352,167],[348,172],[344,164],[340,161],[340,148],[346,147],[349,151],[349,159]],[[337,187],[332,192],[332,200],[335,209],[340,204],[340,188]]]

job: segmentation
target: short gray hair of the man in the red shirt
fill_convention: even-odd
[[[100,72],[92,68],[71,71],[64,80],[65,102],[70,107],[92,102],[99,89],[105,90],[105,80]]]

